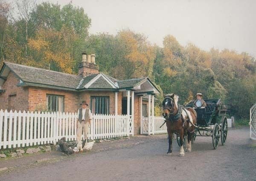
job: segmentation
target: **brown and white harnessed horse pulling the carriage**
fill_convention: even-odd
[[[191,140],[195,131],[197,114],[193,108],[183,107],[178,104],[179,96],[168,94],[163,100],[163,117],[166,119],[169,136],[169,148],[167,155],[172,155],[173,133],[180,135],[180,155],[184,156],[183,137],[187,135],[186,152],[191,152]]]

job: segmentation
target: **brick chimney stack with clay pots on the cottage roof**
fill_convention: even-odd
[[[95,63],[95,54],[88,55],[86,52],[82,52],[78,75],[84,78],[93,74],[99,74],[99,66]]]

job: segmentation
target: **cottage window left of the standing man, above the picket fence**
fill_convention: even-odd
[[[47,108],[49,112],[64,112],[63,95],[46,95]]]

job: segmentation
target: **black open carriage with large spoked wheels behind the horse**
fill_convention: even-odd
[[[227,139],[227,118],[230,117],[227,106],[222,105],[220,99],[207,99],[205,108],[195,109],[197,112],[197,123],[195,132],[192,136],[192,143],[197,136],[211,136],[213,148],[218,147],[219,139],[224,145]],[[193,107],[193,102],[190,102],[186,107]],[[212,128],[213,127],[213,128]],[[177,137],[177,143],[179,144]]]

